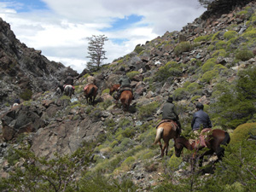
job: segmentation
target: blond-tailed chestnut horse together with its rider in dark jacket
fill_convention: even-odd
[[[165,149],[167,155],[170,139],[173,138],[175,140],[181,133],[177,109],[172,101],[172,96],[169,96],[162,108],[162,120],[156,126],[156,137],[153,144],[160,144],[161,156],[164,156]],[[165,143],[164,148],[162,148],[162,144],[160,143],[161,138]]]

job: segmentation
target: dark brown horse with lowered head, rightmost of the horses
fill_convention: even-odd
[[[212,130],[207,134],[206,144],[207,148],[210,148],[206,152],[200,155],[199,166],[202,166],[202,161],[205,155],[213,154],[214,152],[218,156],[218,160],[221,160],[224,156],[224,148],[221,145],[227,145],[230,143],[230,134],[223,130]],[[175,154],[177,157],[180,156],[183,148],[188,148],[189,150],[201,150],[202,148],[195,148],[195,144],[190,144],[189,140],[185,137],[178,137],[174,143]],[[217,161],[218,161],[217,160]]]

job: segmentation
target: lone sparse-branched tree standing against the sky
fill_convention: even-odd
[[[90,58],[90,61],[87,62],[87,68],[90,71],[98,70],[102,61],[108,59],[105,57],[106,51],[103,49],[105,41],[108,41],[108,38],[105,35],[93,35],[89,40],[88,54],[87,58]]]

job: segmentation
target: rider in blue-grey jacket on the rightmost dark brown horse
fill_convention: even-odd
[[[209,118],[209,115],[203,111],[204,105],[198,103],[195,107],[197,112],[194,113],[191,127],[192,131],[197,131],[201,128],[201,125],[204,128],[212,128],[212,122]]]

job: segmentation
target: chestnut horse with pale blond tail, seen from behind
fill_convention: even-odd
[[[155,136],[153,145],[156,143],[159,143],[162,157],[165,155],[165,150],[167,155],[170,139],[173,138],[175,141],[175,139],[179,137],[179,134],[180,134],[180,131],[178,131],[177,125],[175,125],[173,121],[161,123],[157,127],[156,136]],[[165,143],[164,148],[162,147],[162,143],[160,141],[161,139],[164,140],[164,143]]]

